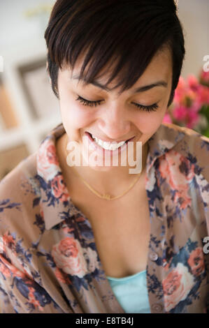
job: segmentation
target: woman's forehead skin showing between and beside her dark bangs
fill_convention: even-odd
[[[66,67],[66,73],[70,80],[73,81],[73,77],[79,77],[80,70],[82,68],[82,64],[85,57],[82,56],[76,61],[75,67],[72,70],[69,67]],[[115,62],[112,60],[104,68],[102,68],[99,72],[99,75],[96,76],[96,81],[100,82],[101,84],[106,84],[108,79],[113,73],[115,68]],[[88,66],[85,68],[85,73],[88,70]],[[124,70],[120,72],[120,75],[123,76]],[[84,74],[85,75],[85,74]],[[150,64],[147,66],[143,75],[141,75],[136,82],[137,85],[149,84],[150,82],[155,82],[157,80],[169,80],[169,77],[172,75],[172,56],[171,50],[166,47],[164,50],[157,52],[150,61]],[[83,80],[74,80],[75,83],[82,84]],[[117,84],[117,79],[113,80],[108,84],[108,88],[112,89]],[[134,84],[133,88],[136,86]],[[131,88],[132,89],[132,88]]]

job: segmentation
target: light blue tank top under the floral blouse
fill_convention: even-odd
[[[146,270],[123,278],[107,278],[125,313],[151,313]]]

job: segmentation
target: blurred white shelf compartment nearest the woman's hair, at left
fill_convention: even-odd
[[[52,91],[46,59],[18,66],[24,94],[34,119],[52,117],[59,112],[59,101]]]

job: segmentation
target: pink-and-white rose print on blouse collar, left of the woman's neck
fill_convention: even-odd
[[[57,168],[58,166],[58,168]],[[47,139],[41,144],[37,154],[38,174],[46,180],[51,180],[59,170],[56,148],[52,140]]]

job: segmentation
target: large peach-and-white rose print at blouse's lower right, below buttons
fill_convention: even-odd
[[[178,266],[162,281],[162,285],[165,308],[168,312],[175,308],[180,301],[187,298],[194,286],[194,278],[192,274],[189,274],[187,267],[182,263],[178,263]]]

